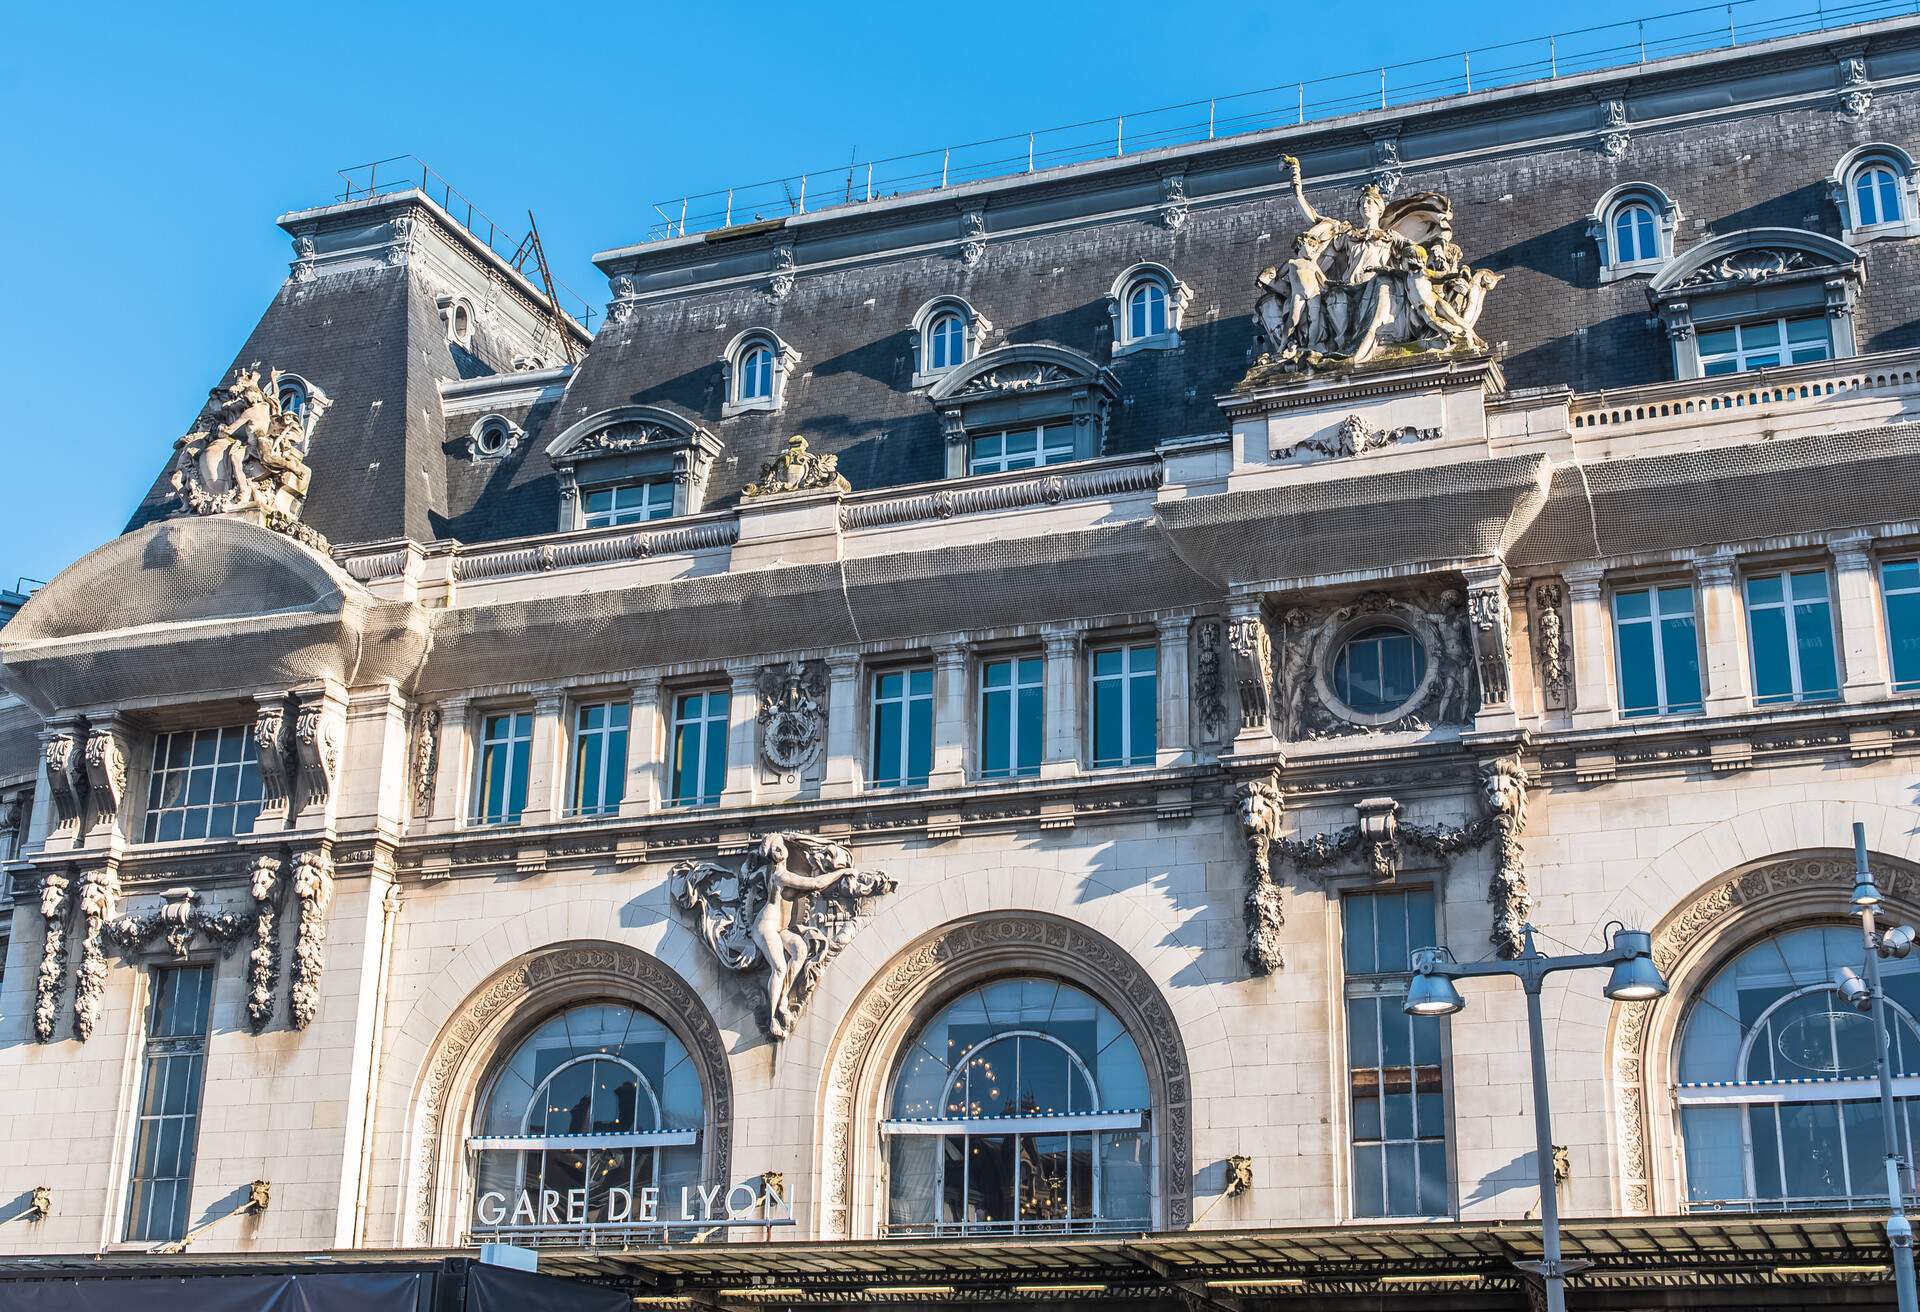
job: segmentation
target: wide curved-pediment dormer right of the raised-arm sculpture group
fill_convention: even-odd
[[[1807,229],[1747,229],[1668,259],[1647,302],[1672,344],[1674,377],[1786,369],[1857,352],[1866,280],[1851,246]]]

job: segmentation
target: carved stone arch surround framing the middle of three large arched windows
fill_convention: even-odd
[[[858,1133],[870,1133],[862,1108],[872,1099],[862,1099],[862,1091],[881,1089],[891,1078],[891,1043],[904,1043],[912,1022],[931,1014],[924,1005],[935,989],[947,997],[1002,970],[1060,974],[1119,1012],[1140,1043],[1154,1089],[1160,1224],[1187,1229],[1192,1224],[1192,1085],[1181,1026],[1160,985],[1133,957],[1085,926],[1056,916],[996,914],[935,930],[906,949],[849,1010],[828,1076],[826,1233],[847,1237],[852,1229],[856,1124]],[[879,1051],[883,1039],[889,1051]]]

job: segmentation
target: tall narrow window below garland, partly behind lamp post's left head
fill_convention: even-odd
[[[1354,1128],[1354,1216],[1446,1216],[1444,1016],[1409,1016],[1409,953],[1432,947],[1432,889],[1350,893],[1346,1068]]]

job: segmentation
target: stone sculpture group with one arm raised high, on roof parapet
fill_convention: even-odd
[[[1475,325],[1501,275],[1467,267],[1446,196],[1417,192],[1388,204],[1379,186],[1365,186],[1359,221],[1348,223],[1313,209],[1300,161],[1288,156],[1286,165],[1308,227],[1294,238],[1294,257],[1256,279],[1263,363],[1313,369],[1359,365],[1394,348],[1486,348]]]

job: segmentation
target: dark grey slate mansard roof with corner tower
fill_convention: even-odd
[[[1841,56],[1855,52],[1876,88],[1866,117],[1837,111]],[[634,403],[718,440],[703,509],[737,501],[793,432],[835,453],[856,490],[939,480],[945,440],[925,388],[912,386],[908,327],[937,296],[964,298],[993,325],[981,348],[1052,344],[1112,369],[1104,453],[1148,451],[1227,428],[1217,398],[1252,363],[1254,279],[1302,227],[1281,158],[1304,161],[1319,209],[1354,215],[1392,138],[1402,194],[1450,196],[1467,259],[1505,275],[1480,332],[1501,344],[1511,388],[1645,384],[1670,377],[1668,344],[1644,277],[1599,279],[1596,200],[1622,182],[1665,190],[1680,209],[1676,255],[1757,227],[1839,238],[1828,173],[1855,146],[1920,138],[1914,86],[1920,19],[1891,19],[628,246],[595,257],[622,313],[570,373],[518,390],[516,359],[561,363],[538,294],[424,196],[399,194],[280,221],[296,250],[305,240],[317,254],[296,261],[234,363],[296,371],[328,392],[303,519],[342,546],[551,532],[561,478],[547,444]],[[1620,158],[1599,148],[1615,100],[1630,125]],[[1185,206],[1169,221],[1175,192]],[[985,248],[964,259],[975,227]],[[1914,244],[1860,254],[1859,350],[1920,346]],[[791,290],[774,296],[789,257]],[[1110,288],[1140,261],[1169,269],[1190,304],[1177,348],[1116,355]],[[449,294],[484,302],[472,352],[445,340]],[[747,328],[778,334],[799,363],[776,413],[726,417],[722,353]],[[444,400],[486,373],[503,388],[492,413],[526,430],[499,463],[467,453],[482,401],[467,396],[453,413]],[[134,524],[165,507],[161,473]]]

